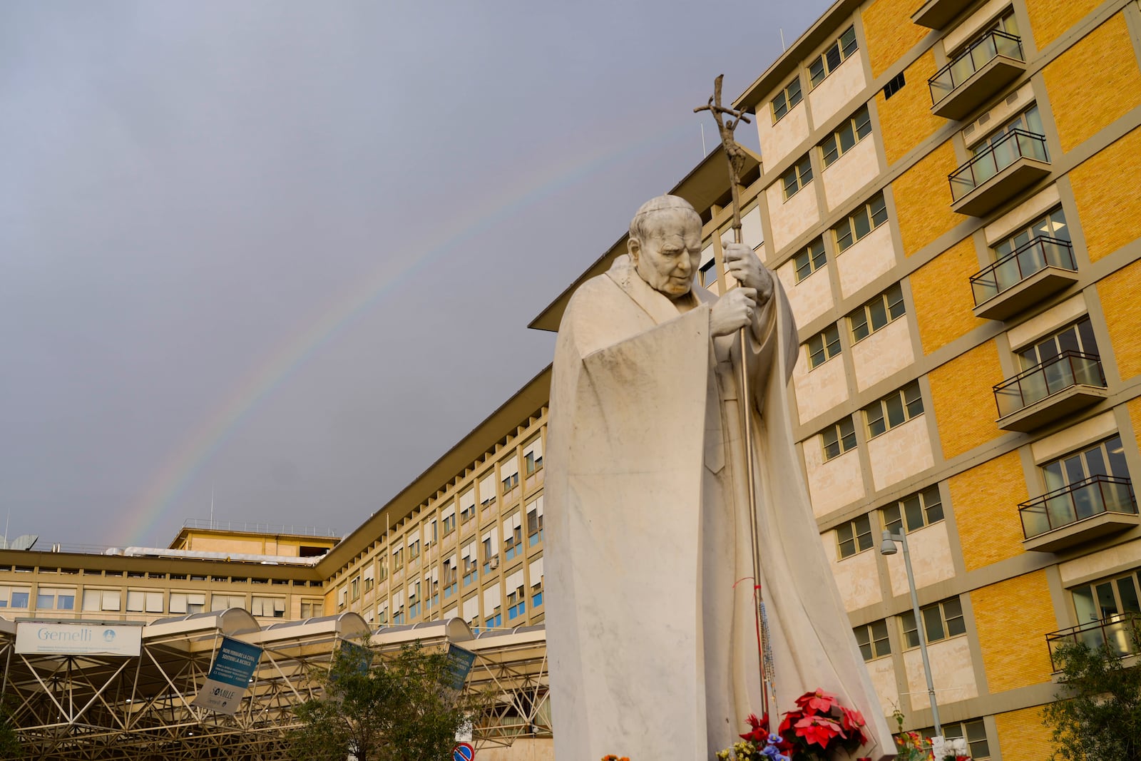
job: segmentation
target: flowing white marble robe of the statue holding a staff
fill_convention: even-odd
[[[868,722],[857,755],[882,759],[895,744],[793,448],[796,330],[774,283],[747,359],[777,709],[835,693]],[[711,337],[717,297],[695,286],[683,300],[622,256],[577,290],[559,329],[544,488],[558,761],[712,759],[761,713],[741,341]]]

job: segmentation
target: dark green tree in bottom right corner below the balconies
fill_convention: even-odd
[[[1127,631],[1132,653],[1141,653],[1136,620]],[[1124,648],[1123,648],[1124,649]],[[1141,761],[1141,669],[1126,666],[1122,653],[1102,643],[1065,642],[1054,649],[1065,689],[1043,713],[1052,730],[1054,758],[1065,761]]]

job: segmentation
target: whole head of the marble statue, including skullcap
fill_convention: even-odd
[[[630,221],[634,270],[655,291],[679,299],[693,288],[702,254],[702,218],[685,199],[659,195]]]

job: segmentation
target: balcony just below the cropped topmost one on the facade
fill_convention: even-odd
[[[963,119],[1025,71],[1022,40],[992,30],[928,80],[931,113]]]

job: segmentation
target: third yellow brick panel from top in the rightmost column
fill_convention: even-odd
[[[1090,259],[1098,261],[1141,237],[1141,194],[1120,177],[1141,172],[1141,129],[1075,167],[1070,186]]]

